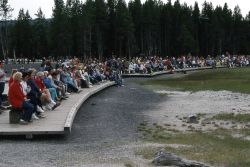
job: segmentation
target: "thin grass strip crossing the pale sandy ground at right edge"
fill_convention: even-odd
[[[218,114],[213,116],[212,119],[235,122],[250,122],[250,114]]]

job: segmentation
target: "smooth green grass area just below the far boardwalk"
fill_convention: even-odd
[[[215,69],[192,72],[184,77],[143,81],[140,84],[184,91],[228,90],[250,93],[250,68]]]

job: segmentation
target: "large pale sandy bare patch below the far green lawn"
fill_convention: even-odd
[[[247,123],[232,121],[209,121],[214,115],[221,113],[250,114],[250,95],[230,91],[180,92],[156,90],[166,95],[167,100],[160,103],[149,116],[158,124],[169,126],[179,131],[214,130],[216,128],[249,127]],[[202,115],[197,124],[188,124],[191,115]]]

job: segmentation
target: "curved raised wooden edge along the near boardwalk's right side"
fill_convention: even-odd
[[[70,134],[71,133],[71,128],[75,119],[75,116],[79,110],[79,108],[81,107],[81,105],[91,96],[93,96],[94,94],[109,88],[111,86],[115,85],[115,82],[107,82],[104,83],[101,87],[99,87],[98,89],[95,89],[87,94],[84,94],[82,96],[82,98],[80,98],[77,103],[71,108],[70,112],[68,113],[68,116],[66,118],[65,124],[64,124],[64,133],[65,134]]]

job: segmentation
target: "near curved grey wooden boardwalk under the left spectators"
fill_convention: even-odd
[[[93,88],[83,89],[80,93],[69,95],[68,100],[54,111],[45,112],[46,118],[34,120],[28,125],[9,124],[9,111],[0,115],[0,135],[33,135],[67,134],[71,131],[75,115],[83,102],[93,94],[114,85],[114,82],[105,82]]]

